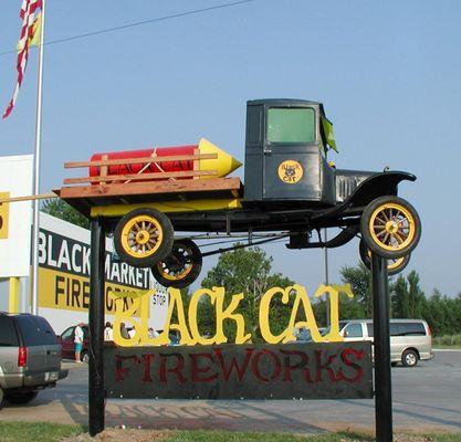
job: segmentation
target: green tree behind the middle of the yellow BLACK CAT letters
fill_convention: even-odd
[[[202,287],[226,287],[224,307],[232,295],[243,293],[239,313],[245,319],[245,333],[252,334],[253,341],[261,340],[259,334],[259,307],[261,296],[271,287],[287,287],[293,281],[280,273],[271,273],[272,257],[258,246],[238,249],[219,256],[217,265],[203,278]],[[272,332],[282,332],[289,322],[293,303],[283,304],[280,297],[274,297],[271,304],[270,320]],[[210,335],[216,330],[214,307],[205,297],[199,304],[199,326]],[[224,333],[230,341],[235,336],[233,322],[224,323]]]

